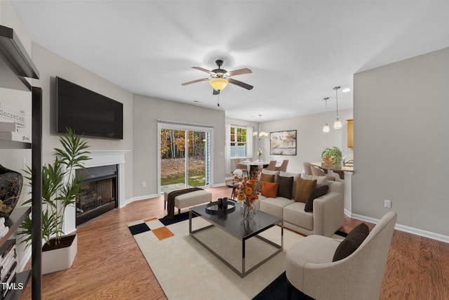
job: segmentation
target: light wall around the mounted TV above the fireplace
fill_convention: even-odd
[[[72,63],[71,61],[33,44],[32,59],[40,73],[37,82],[42,88],[42,161],[53,161],[53,148],[60,147],[59,136],[56,135],[56,86],[55,77],[62,77],[74,84],[95,91],[104,96],[123,103],[123,140],[104,138],[86,138],[88,150],[133,150],[133,94],[119,86],[102,79],[96,74]],[[126,154],[125,164],[125,197],[133,197],[133,152]]]

